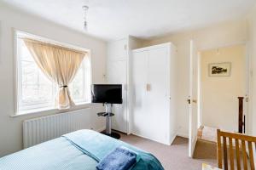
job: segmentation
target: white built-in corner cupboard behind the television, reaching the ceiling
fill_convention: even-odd
[[[125,37],[108,42],[107,81],[122,84],[122,105],[113,105],[112,128],[122,133],[131,133],[130,125],[130,66],[131,50],[139,47],[135,37]]]

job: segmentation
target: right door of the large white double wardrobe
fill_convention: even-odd
[[[148,138],[168,143],[169,59],[167,48],[148,50]],[[149,133],[150,132],[150,133]]]

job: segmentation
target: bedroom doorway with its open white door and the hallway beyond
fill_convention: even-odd
[[[217,128],[238,132],[238,111],[241,110],[238,97],[243,97],[241,114],[242,122],[246,122],[245,133],[250,123],[249,56],[246,43],[204,49],[196,48],[195,45],[191,40],[188,96],[189,157],[193,157],[197,150],[195,146],[201,141],[209,141],[209,144],[215,147]],[[206,80],[209,84],[205,84]],[[238,84],[240,88],[236,87]]]

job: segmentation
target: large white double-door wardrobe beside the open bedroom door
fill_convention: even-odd
[[[163,144],[176,136],[176,53],[171,42],[132,50],[132,133]]]

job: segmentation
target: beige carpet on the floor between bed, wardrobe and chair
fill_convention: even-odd
[[[214,144],[196,144],[196,159],[191,159],[188,156],[188,139],[182,137],[177,137],[171,146],[143,139],[135,135],[127,136],[122,134],[121,140],[152,153],[160,160],[166,170],[201,170],[201,164],[203,162],[216,166],[216,150]]]

